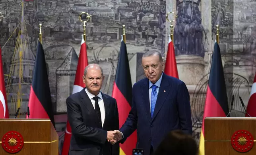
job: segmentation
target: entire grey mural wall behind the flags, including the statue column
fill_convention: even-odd
[[[61,153],[67,120],[66,98],[72,94],[83,34],[80,13],[91,15],[86,26],[88,61],[103,67],[102,91],[112,95],[122,25],[126,26],[128,59],[132,83],[135,83],[145,77],[141,67],[145,51],[159,51],[165,59],[166,34],[169,34],[165,30],[167,4],[176,5],[176,62],[179,78],[190,93],[194,138],[200,138],[216,25],[220,26],[219,45],[229,100],[235,95],[231,116],[244,116],[238,96],[247,104],[256,72],[254,0],[24,0],[23,19],[20,0],[1,0],[0,12],[5,18],[0,21],[0,45],[10,117],[14,117],[17,109],[13,96],[16,95],[14,88],[19,78],[15,74],[19,73],[19,64],[14,53],[21,23],[25,25],[27,54],[23,63],[24,95],[19,117],[26,114],[41,23]],[[10,73],[12,80],[9,80]]]

